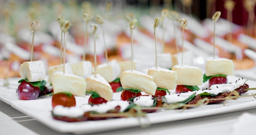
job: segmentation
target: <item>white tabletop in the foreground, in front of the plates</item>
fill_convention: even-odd
[[[48,128],[3,101],[0,101],[0,106],[0,135],[17,135],[20,133],[24,135],[70,135],[70,133],[58,133]],[[103,133],[93,133],[90,135],[156,135],[171,133],[175,135],[200,135],[204,133],[207,133],[207,135],[216,135],[219,131],[221,131],[220,133],[223,135],[233,135],[232,130],[234,123],[236,123],[238,117],[245,112],[256,115],[256,109],[252,109],[189,120],[153,124],[147,128],[132,127]],[[13,130],[14,128],[15,130]],[[216,129],[218,130],[216,131]],[[252,132],[245,132],[247,135],[250,133]]]

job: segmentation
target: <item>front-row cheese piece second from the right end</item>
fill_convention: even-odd
[[[177,85],[197,86],[203,83],[203,71],[197,66],[175,65],[172,71],[177,72]]]

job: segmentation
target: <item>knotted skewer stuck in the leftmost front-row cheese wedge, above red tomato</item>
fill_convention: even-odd
[[[69,20],[66,20],[63,26],[61,27],[61,30],[64,34],[64,46],[63,46],[63,73],[65,74],[65,64],[66,64],[66,34],[68,34],[68,30],[71,27],[71,23]]]

